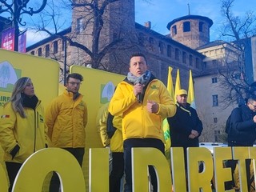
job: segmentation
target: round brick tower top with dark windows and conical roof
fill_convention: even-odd
[[[210,42],[210,26],[213,23],[210,18],[189,14],[174,19],[166,27],[175,41],[196,49]]]

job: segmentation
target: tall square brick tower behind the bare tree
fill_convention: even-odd
[[[97,54],[102,50],[103,52],[108,50],[107,52],[110,53],[111,43],[129,37],[135,30],[134,0],[110,2],[106,7],[103,6],[105,4],[103,2],[107,1],[94,1],[95,5],[97,3],[99,16],[96,9],[90,6],[79,6],[72,12],[73,39]],[[73,61],[90,66],[90,57],[85,51],[74,47],[71,55]],[[111,62],[110,54],[105,54],[102,64]]]

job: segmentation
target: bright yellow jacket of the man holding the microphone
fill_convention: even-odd
[[[134,86],[123,81],[117,86],[110,101],[109,111],[114,116],[122,115],[122,136],[127,138],[158,138],[164,142],[162,121],[176,113],[176,106],[166,86],[153,79],[146,87],[142,103],[138,103],[133,92]],[[147,101],[157,102],[156,114],[148,112]]]

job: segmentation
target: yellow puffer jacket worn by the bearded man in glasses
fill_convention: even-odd
[[[53,146],[85,147],[87,107],[82,94],[73,100],[67,90],[54,99],[46,110],[46,125]]]

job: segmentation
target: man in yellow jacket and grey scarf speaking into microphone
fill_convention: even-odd
[[[147,67],[143,54],[133,54],[130,58],[130,72],[118,84],[110,100],[110,114],[122,115],[126,192],[132,191],[133,186],[131,149],[154,147],[165,154],[162,121],[176,112],[176,106],[166,86]],[[158,182],[152,166],[150,178],[154,191],[157,191]]]

